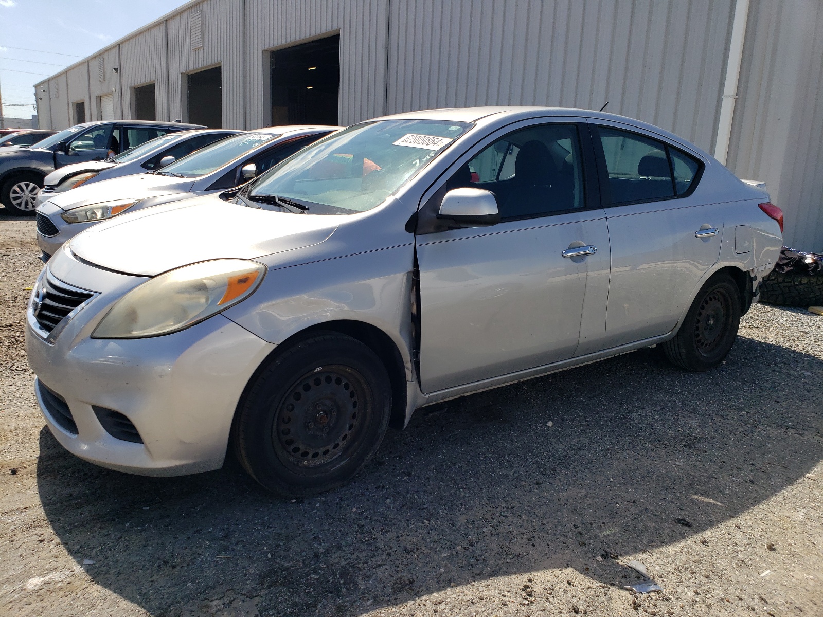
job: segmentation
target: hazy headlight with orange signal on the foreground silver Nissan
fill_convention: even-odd
[[[165,272],[119,299],[92,338],[142,338],[178,332],[254,293],[266,267],[215,259]]]

